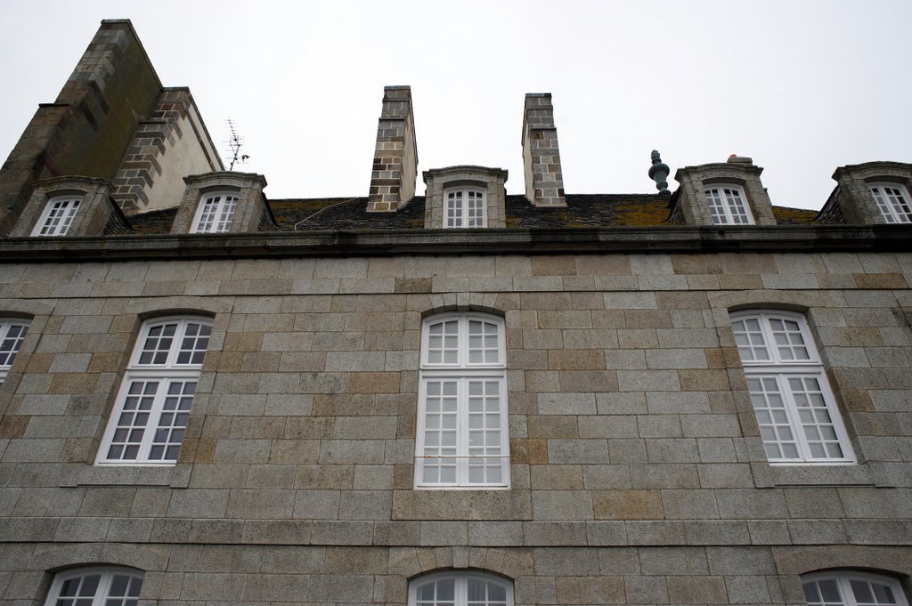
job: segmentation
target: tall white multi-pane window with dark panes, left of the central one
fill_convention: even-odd
[[[177,461],[211,332],[212,323],[202,318],[143,324],[98,451],[99,464]]]

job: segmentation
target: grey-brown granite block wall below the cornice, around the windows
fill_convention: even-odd
[[[21,263],[0,386],[0,603],[56,570],[146,603],[405,603],[478,569],[516,604],[803,603],[912,573],[909,253]],[[730,310],[805,314],[857,462],[771,466]],[[422,318],[503,315],[512,488],[418,490]],[[144,318],[213,318],[173,467],[93,465]],[[0,314],[2,314],[0,313]]]

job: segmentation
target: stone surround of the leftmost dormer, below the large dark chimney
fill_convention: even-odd
[[[99,236],[104,231],[114,207],[110,200],[109,181],[90,177],[57,177],[36,181],[26,208],[10,232],[12,237],[32,235],[47,206],[47,200],[57,196],[76,195],[81,200],[76,216],[67,229],[67,236]]]

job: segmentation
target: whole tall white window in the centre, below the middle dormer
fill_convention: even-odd
[[[421,334],[415,486],[510,484],[503,320],[444,314]]]

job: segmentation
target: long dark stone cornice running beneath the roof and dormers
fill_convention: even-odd
[[[0,262],[671,252],[912,252],[896,225],[262,232],[0,239]]]

